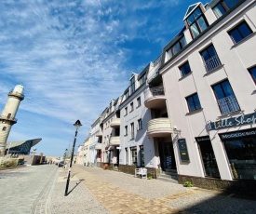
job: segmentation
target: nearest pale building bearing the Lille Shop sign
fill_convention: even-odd
[[[163,49],[159,72],[180,182],[239,188],[256,180],[255,6],[197,3]]]

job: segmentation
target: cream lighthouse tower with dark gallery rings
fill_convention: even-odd
[[[23,90],[22,85],[17,85],[8,93],[7,104],[0,116],[0,156],[5,155],[10,128],[17,123],[15,115],[20,106],[20,101],[24,100]]]

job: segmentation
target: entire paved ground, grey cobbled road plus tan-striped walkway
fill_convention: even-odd
[[[79,165],[64,196],[66,176],[55,165],[0,171],[0,214],[256,213],[255,198]]]

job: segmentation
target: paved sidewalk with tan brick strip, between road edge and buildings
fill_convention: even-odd
[[[59,170],[51,213],[256,213],[256,201],[121,172],[74,165],[64,196],[67,172]]]

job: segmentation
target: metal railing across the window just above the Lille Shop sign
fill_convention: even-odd
[[[222,114],[229,114],[240,111],[239,104],[234,95],[218,100]]]

